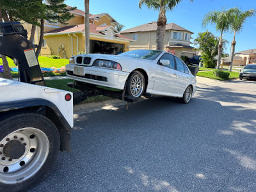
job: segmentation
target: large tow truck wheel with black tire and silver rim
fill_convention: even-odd
[[[0,121],[0,191],[24,191],[49,173],[60,150],[56,126],[36,113]]]

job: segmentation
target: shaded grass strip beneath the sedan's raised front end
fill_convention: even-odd
[[[76,90],[74,88],[70,88],[67,86],[67,83],[71,83],[71,82],[74,82],[74,80],[72,79],[45,80],[45,84],[47,87],[66,90],[68,92],[78,92],[79,90]],[[111,99],[110,97],[98,95],[96,97],[88,97],[86,100],[84,100],[81,103],[99,102],[99,101],[110,100],[110,99]]]

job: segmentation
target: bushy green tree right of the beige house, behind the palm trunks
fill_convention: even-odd
[[[211,32],[205,31],[198,33],[198,36],[194,40],[195,45],[199,45],[198,50],[202,51],[201,58],[204,61],[204,67],[214,68],[214,57],[218,54],[218,44],[220,38],[214,36]],[[227,40],[222,40],[222,50],[225,49]]]

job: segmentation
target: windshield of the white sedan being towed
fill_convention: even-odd
[[[119,56],[131,57],[131,58],[140,58],[144,60],[156,60],[156,58],[161,54],[162,51],[156,50],[134,50],[134,51],[127,51]]]

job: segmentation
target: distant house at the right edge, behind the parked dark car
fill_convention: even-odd
[[[221,60],[229,61],[230,57],[221,58]],[[256,63],[256,49],[248,49],[235,53],[233,60],[234,66],[245,66],[250,63]]]

